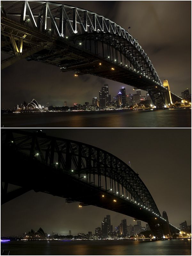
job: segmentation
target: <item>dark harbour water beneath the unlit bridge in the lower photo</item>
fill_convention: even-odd
[[[191,239],[11,241],[3,249],[11,255],[191,255]]]

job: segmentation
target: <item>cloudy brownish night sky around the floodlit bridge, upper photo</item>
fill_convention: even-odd
[[[171,91],[181,95],[191,92],[191,2],[190,1],[54,1],[99,13],[113,20],[133,37],[148,54],[161,81],[166,78]],[[2,56],[5,58],[5,56]],[[70,107],[74,103],[92,104],[103,84],[108,84],[111,97],[123,86],[91,75],[74,77],[74,72],[61,73],[60,68],[20,60],[1,72],[1,108],[13,107],[33,98],[41,105]],[[146,92],[142,92],[145,95]]]

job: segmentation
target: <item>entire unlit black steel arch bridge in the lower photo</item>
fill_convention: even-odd
[[[1,154],[2,204],[33,189],[145,221],[156,238],[179,231],[161,216],[139,175],[100,148],[41,131],[3,129]],[[8,192],[8,183],[21,188]]]

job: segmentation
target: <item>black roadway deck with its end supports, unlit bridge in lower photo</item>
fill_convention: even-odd
[[[93,186],[92,182],[86,182],[83,177],[78,178],[78,170],[73,173],[62,170],[55,164],[45,164],[36,157],[30,157],[6,145],[2,147],[1,152],[3,162],[8,163],[9,167],[1,172],[2,182],[21,187],[15,192],[4,193],[3,190],[2,204],[33,189],[35,192],[66,198],[67,202],[80,202],[81,206],[94,205],[145,221],[156,238],[162,238],[166,234],[169,224],[159,215],[154,215],[136,202],[125,200],[110,190]],[[87,170],[81,170],[81,174],[87,175]],[[169,227],[171,232],[178,232],[172,225]]]

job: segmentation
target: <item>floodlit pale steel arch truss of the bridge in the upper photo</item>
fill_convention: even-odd
[[[31,4],[30,7],[30,2],[36,3],[36,6],[35,4]],[[129,42],[129,44],[131,44],[132,47],[140,53],[140,56],[142,56],[142,58],[145,60],[145,64],[148,67],[147,69],[149,69],[153,74],[156,82],[162,85],[155,68],[153,67],[147,54],[144,52],[138,41],[133,38],[129,32],[127,32],[124,28],[120,27],[115,22],[108,20],[107,18],[96,13],[63,4],[50,3],[46,1],[18,1],[17,4],[17,8],[15,8],[16,4],[13,4],[13,6],[8,6],[8,8],[2,8],[2,13],[20,16],[21,23],[26,22],[26,17],[29,16],[33,28],[37,28],[38,26],[38,29],[40,29],[40,20],[41,16],[43,15],[42,31],[46,31],[47,19],[50,19],[53,29],[56,31],[58,37],[65,36],[65,25],[67,25],[71,35],[82,34],[85,32],[89,34],[91,32],[96,34],[107,33],[110,35],[119,36],[120,38]],[[42,8],[40,10],[43,9],[43,11],[41,11],[39,15],[39,7],[41,6]],[[53,6],[53,8],[51,8],[51,6]],[[19,12],[15,13],[15,10],[18,10]],[[38,25],[36,25],[35,17],[38,17]],[[59,26],[56,22],[56,19],[59,20]],[[78,28],[77,24],[80,25],[81,30]],[[53,31],[51,33],[53,33]],[[134,59],[133,56],[132,58]],[[134,60],[134,62],[135,61],[136,60]],[[137,61],[135,63],[137,63]],[[135,68],[138,68],[136,66]],[[147,70],[145,73],[147,74]]]

